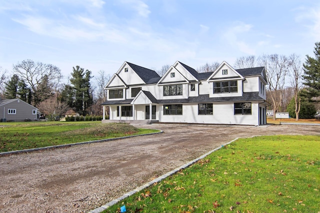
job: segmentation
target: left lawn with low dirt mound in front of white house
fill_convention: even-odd
[[[139,135],[158,130],[97,122],[7,122],[0,128],[0,152]]]

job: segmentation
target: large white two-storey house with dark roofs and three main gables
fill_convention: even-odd
[[[124,62],[105,86],[109,120],[201,124],[266,124],[264,67],[233,69],[223,61],[198,73],[176,61],[160,77]]]

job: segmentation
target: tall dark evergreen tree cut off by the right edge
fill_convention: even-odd
[[[307,86],[306,94],[309,98],[320,96],[320,42],[315,42],[313,53],[315,57],[306,55],[303,64],[303,84]]]

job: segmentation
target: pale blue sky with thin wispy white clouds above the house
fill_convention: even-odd
[[[194,69],[242,56],[314,56],[318,0],[0,0],[0,71],[31,59],[112,75],[124,61]]]

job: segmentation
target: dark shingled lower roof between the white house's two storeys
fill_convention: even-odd
[[[143,93],[152,101],[152,103],[157,104],[171,104],[171,103],[207,103],[207,102],[235,102],[235,101],[264,101],[258,94],[258,92],[243,92],[242,96],[232,96],[232,97],[213,97],[209,98],[209,95],[199,95],[194,97],[189,97],[185,99],[168,99],[168,100],[157,100],[154,96],[148,92],[143,91]],[[133,99],[118,100],[118,101],[105,101],[101,105],[112,105],[112,104],[130,104]]]

